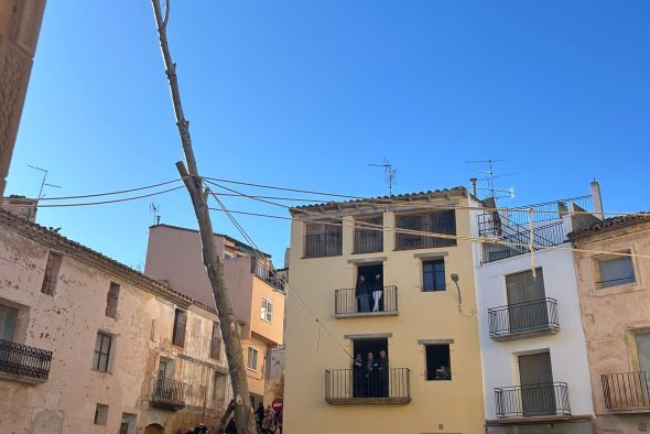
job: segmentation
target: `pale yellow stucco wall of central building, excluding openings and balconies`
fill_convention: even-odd
[[[453,199],[467,204],[465,197],[454,196]],[[346,225],[351,226],[349,215],[336,216],[344,217]],[[383,225],[394,225],[394,213],[384,213]],[[456,225],[458,235],[469,235],[468,211],[456,211]],[[483,433],[485,414],[470,243],[458,241],[457,247],[397,251],[394,235],[384,231],[382,252],[351,254],[353,228],[349,226],[344,227],[343,256],[305,259],[305,225],[295,219],[292,223],[291,290],[345,350],[326,332],[318,333],[314,318],[293,300],[289,302],[284,432]],[[444,257],[447,291],[421,291],[422,260],[415,254],[422,253]],[[399,315],[335,318],[335,290],[354,287],[356,282],[356,265],[348,260],[381,257],[386,257],[383,284],[398,286]],[[449,279],[452,273],[459,276],[463,312],[458,312],[458,295]],[[391,334],[388,338],[390,367],[411,370],[411,403],[327,404],[325,370],[351,367],[346,350],[353,352],[353,341],[345,336],[383,333]],[[451,345],[452,381],[425,381],[424,347],[419,339],[454,340]]]

